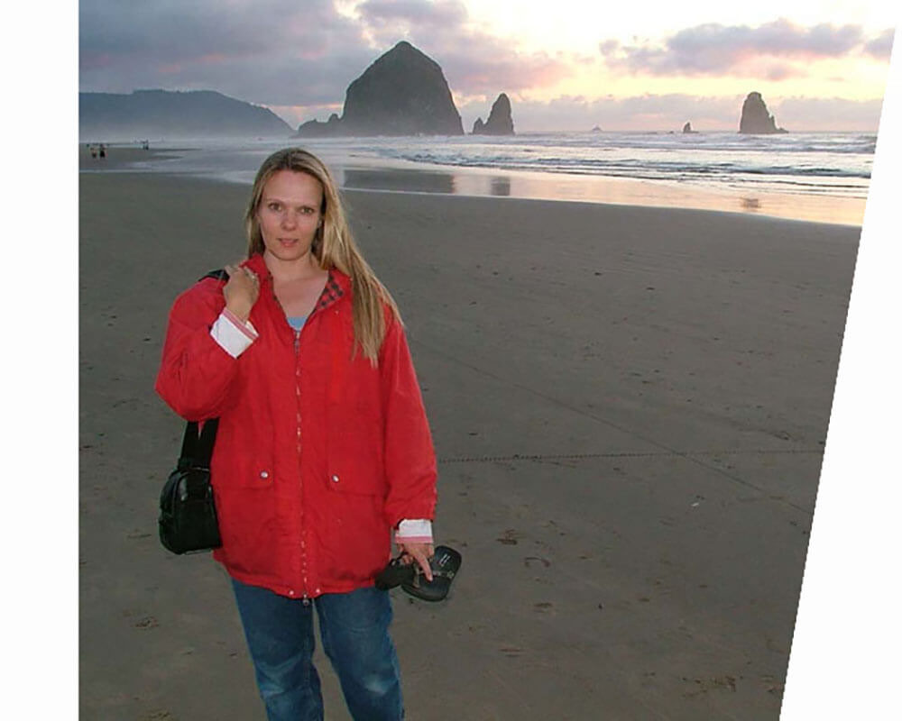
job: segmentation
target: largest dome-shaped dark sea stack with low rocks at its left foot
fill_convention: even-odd
[[[400,41],[345,93],[341,118],[302,124],[298,135],[463,135],[464,125],[438,63]]]

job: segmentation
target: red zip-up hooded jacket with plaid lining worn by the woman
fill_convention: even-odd
[[[372,585],[391,528],[435,512],[435,451],[403,329],[391,319],[378,368],[359,349],[352,360],[351,281],[333,269],[296,337],[262,256],[245,264],[261,279],[259,337],[237,358],[211,337],[226,304],[222,281],[205,278],[172,306],[156,383],[183,418],[219,417],[214,558],[291,598]]]

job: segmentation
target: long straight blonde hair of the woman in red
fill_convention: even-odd
[[[319,267],[336,268],[351,278],[354,317],[354,353],[358,347],[364,356],[377,364],[379,349],[385,337],[385,313],[389,307],[394,319],[400,323],[400,311],[388,289],[376,278],[373,269],[364,260],[347,225],[338,187],[327,167],[312,153],[301,148],[285,148],[263,160],[253,180],[251,199],[244,212],[244,229],[247,233],[247,257],[262,253],[265,249],[257,210],[267,181],[280,170],[306,173],[317,178],[323,187],[323,205],[320,211],[323,222],[317,229],[311,251]]]

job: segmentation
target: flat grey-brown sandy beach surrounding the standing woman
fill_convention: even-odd
[[[152,388],[166,316],[243,255],[248,189],[80,176],[84,719],[264,718],[225,572],[156,528],[183,431]],[[346,200],[408,327],[437,542],[464,555],[447,602],[392,591],[407,717],[777,719],[860,229]]]

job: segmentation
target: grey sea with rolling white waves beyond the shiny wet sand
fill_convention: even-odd
[[[362,167],[476,169],[635,178],[699,187],[765,187],[815,195],[864,196],[877,137],[873,133],[736,132],[522,133],[507,137],[327,138],[305,144],[327,163]],[[250,145],[198,141],[199,152],[155,160],[153,169],[226,176],[253,174],[283,141]],[[193,147],[193,145],[192,145]]]

